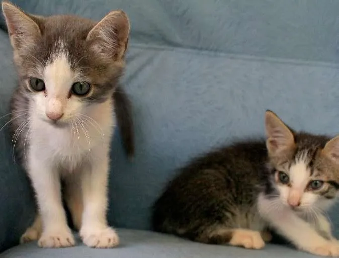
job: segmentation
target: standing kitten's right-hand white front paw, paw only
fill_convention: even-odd
[[[84,244],[93,248],[113,248],[119,244],[119,236],[110,227],[83,227],[80,236]]]

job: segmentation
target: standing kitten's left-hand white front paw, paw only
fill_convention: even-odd
[[[74,245],[74,236],[69,229],[43,232],[38,241],[38,246],[43,248],[62,248]]]

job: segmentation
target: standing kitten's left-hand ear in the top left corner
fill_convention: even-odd
[[[2,2],[1,6],[13,48],[20,50],[34,44],[35,39],[41,35],[38,24],[10,2]]]

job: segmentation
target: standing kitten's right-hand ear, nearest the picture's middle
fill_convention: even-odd
[[[108,13],[89,32],[86,40],[99,53],[116,60],[122,58],[127,49],[130,24],[122,10]]]

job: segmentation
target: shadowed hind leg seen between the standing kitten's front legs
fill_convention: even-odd
[[[76,173],[65,179],[64,198],[72,215],[73,225],[76,230],[80,230],[83,213],[81,174]]]

